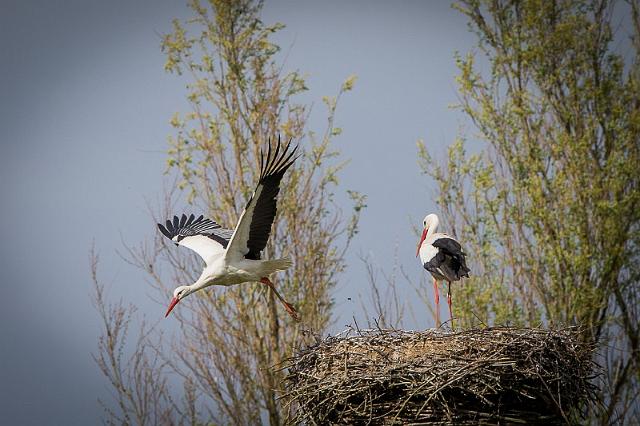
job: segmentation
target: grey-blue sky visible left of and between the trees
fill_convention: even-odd
[[[118,250],[157,232],[148,205],[170,181],[169,119],[187,110],[187,81],[164,72],[160,38],[188,16],[175,0],[0,1],[2,423],[96,424],[98,398],[109,403],[91,357],[100,332],[93,243],[109,296],[153,321],[164,314]],[[416,141],[444,155],[465,125],[449,108],[454,53],[475,38],[448,2],[267,0],[263,20],[286,25],[276,41],[285,67],[308,77],[312,129],[324,126],[321,97],[358,76],[338,107],[336,144],[350,159],[343,188],[365,194],[368,207],[334,295],[337,332],[362,317],[360,256],[386,269],[397,256],[412,277],[424,273],[412,225],[437,207]],[[425,312],[409,325],[433,321]]]

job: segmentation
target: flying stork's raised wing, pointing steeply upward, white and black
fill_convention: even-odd
[[[253,195],[240,215],[238,225],[227,248],[228,260],[260,259],[260,254],[267,245],[271,225],[276,215],[276,197],[280,191],[280,181],[284,173],[293,164],[296,146],[289,151],[291,141],[282,147],[280,138],[274,150],[269,150],[260,157],[260,179]]]

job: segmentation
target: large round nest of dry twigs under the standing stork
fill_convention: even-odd
[[[350,330],[287,363],[293,423],[567,424],[595,401],[575,328]]]

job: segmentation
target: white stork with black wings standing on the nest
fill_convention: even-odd
[[[447,282],[447,304],[449,305],[449,318],[453,324],[451,309],[451,283],[459,281],[463,277],[469,277],[470,269],[465,260],[466,254],[462,251],[460,243],[453,237],[436,232],[440,220],[436,214],[425,216],[422,225],[422,235],[418,243],[416,257],[424,269],[433,277],[433,291],[436,302],[436,327],[440,327],[440,295],[438,294],[438,280]]]

